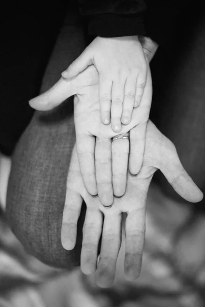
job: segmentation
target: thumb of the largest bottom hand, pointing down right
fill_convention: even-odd
[[[169,140],[166,143],[159,167],[161,172],[183,199],[192,203],[201,201],[203,193],[181,165],[175,146]]]

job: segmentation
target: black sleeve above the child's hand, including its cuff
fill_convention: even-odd
[[[88,34],[102,37],[145,35],[144,0],[78,0],[88,18]]]

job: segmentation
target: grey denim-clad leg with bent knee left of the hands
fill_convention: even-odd
[[[81,20],[69,13],[45,73],[43,92],[85,46]],[[36,112],[14,151],[7,198],[8,221],[27,251],[49,265],[68,269],[79,265],[83,225],[82,219],[76,248],[64,250],[60,227],[74,142],[72,97],[54,111]]]

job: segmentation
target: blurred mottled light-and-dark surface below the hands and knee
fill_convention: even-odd
[[[50,268],[32,256],[10,231],[4,217],[10,160],[0,159],[0,307],[203,307],[205,218],[151,185],[146,246],[140,278],[124,279],[124,242],[116,278],[109,289],[95,276]],[[187,229],[187,230],[186,230]],[[186,231],[184,231],[186,230]],[[183,234],[181,235],[183,231]],[[180,240],[178,240],[180,238]]]

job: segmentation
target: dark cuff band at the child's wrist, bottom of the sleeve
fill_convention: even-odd
[[[136,15],[95,15],[89,21],[88,34],[101,37],[146,35],[142,14]]]

